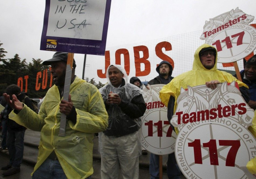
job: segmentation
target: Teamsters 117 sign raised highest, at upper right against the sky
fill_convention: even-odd
[[[256,29],[248,25],[254,16],[239,8],[206,21],[200,37],[218,51],[218,63],[236,62],[256,48]]]

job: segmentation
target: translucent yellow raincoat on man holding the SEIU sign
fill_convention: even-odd
[[[86,178],[93,174],[94,133],[106,130],[108,115],[101,94],[92,84],[76,77],[70,86],[70,95],[77,112],[77,123],[67,120],[65,137],[58,136],[61,99],[55,85],[48,90],[38,115],[24,105],[17,115],[12,111],[9,119],[41,131],[34,171],[54,150],[67,178]]]

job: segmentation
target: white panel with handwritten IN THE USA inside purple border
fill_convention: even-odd
[[[47,36],[102,40],[106,0],[50,1]]]

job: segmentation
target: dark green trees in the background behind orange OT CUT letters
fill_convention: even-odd
[[[43,98],[50,88],[50,72],[47,70],[49,67],[42,65],[41,59],[34,58],[32,62],[27,64],[26,59],[21,60],[18,54],[14,58],[5,59],[7,52],[1,46],[2,43],[0,43],[0,94],[2,95],[5,92],[7,86],[17,84],[18,79],[22,78],[20,86],[22,84],[23,91],[27,89],[27,94],[30,98]],[[96,83],[94,78],[90,80],[86,78],[86,81],[98,89],[104,86],[101,82]]]

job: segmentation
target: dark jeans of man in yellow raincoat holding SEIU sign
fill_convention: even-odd
[[[46,160],[39,166],[39,168],[33,173],[32,179],[66,179],[66,175],[58,160]],[[91,179],[91,176],[86,179]]]

